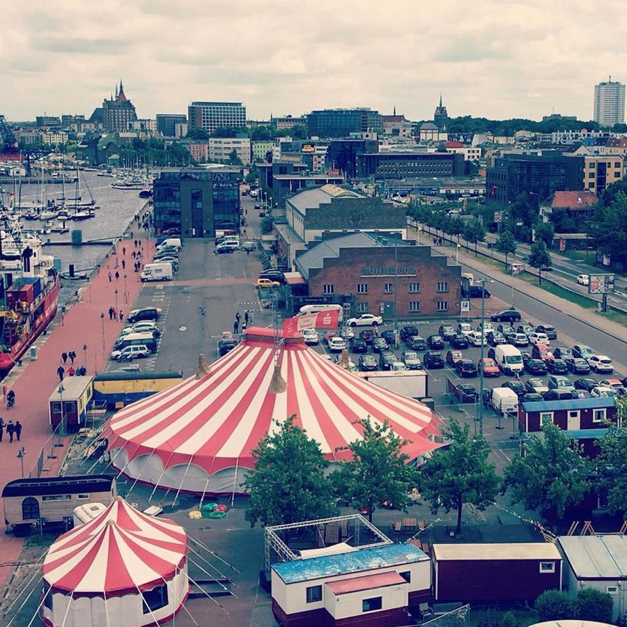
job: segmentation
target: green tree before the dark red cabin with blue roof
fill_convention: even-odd
[[[589,490],[590,464],[549,419],[543,421],[542,432],[543,438],[531,436],[525,457],[515,456],[505,468],[503,491],[509,491],[511,504],[539,509],[555,524]]]

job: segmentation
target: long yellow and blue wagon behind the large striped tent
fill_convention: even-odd
[[[101,372],[93,380],[93,396],[107,409],[121,409],[183,380],[182,372]]]

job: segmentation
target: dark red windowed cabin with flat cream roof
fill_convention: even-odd
[[[555,544],[434,544],[436,603],[500,603],[534,600],[562,589],[562,556]]]

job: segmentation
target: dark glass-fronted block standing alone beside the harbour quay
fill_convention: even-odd
[[[234,168],[164,170],[153,183],[157,233],[212,238],[216,229],[240,228],[240,171]]]

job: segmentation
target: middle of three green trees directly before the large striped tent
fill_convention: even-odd
[[[409,494],[418,477],[415,467],[408,465],[409,456],[402,452],[409,441],[396,435],[387,420],[376,425],[368,417],[356,424],[363,438],[350,442],[353,459],[334,471],[332,481],[339,488],[337,496],[355,509],[365,507],[372,522],[382,502],[404,510],[412,502]]]

